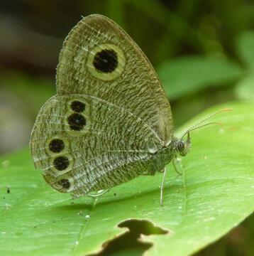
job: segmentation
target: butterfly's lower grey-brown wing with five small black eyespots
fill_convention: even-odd
[[[149,171],[156,144],[153,129],[121,106],[91,95],[56,95],[38,114],[31,153],[53,188],[78,197]]]

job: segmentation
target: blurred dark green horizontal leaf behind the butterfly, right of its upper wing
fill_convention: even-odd
[[[243,70],[232,61],[202,56],[167,60],[158,75],[170,100],[214,85],[226,85],[241,77]]]

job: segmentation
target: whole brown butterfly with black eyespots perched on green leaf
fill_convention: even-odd
[[[165,165],[187,154],[197,125],[174,137],[170,102],[130,36],[105,16],[82,18],[60,52],[56,89],[30,142],[45,181],[78,198],[163,170],[162,203]]]

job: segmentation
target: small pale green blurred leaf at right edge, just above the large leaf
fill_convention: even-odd
[[[254,74],[250,74],[238,82],[236,95],[240,99],[254,101]]]

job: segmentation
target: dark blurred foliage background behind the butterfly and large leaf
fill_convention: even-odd
[[[27,146],[35,115],[55,93],[63,39],[94,13],[123,26],[153,63],[175,127],[219,103],[253,104],[253,1],[1,1],[0,154]],[[199,255],[253,254],[253,226],[250,217]]]

